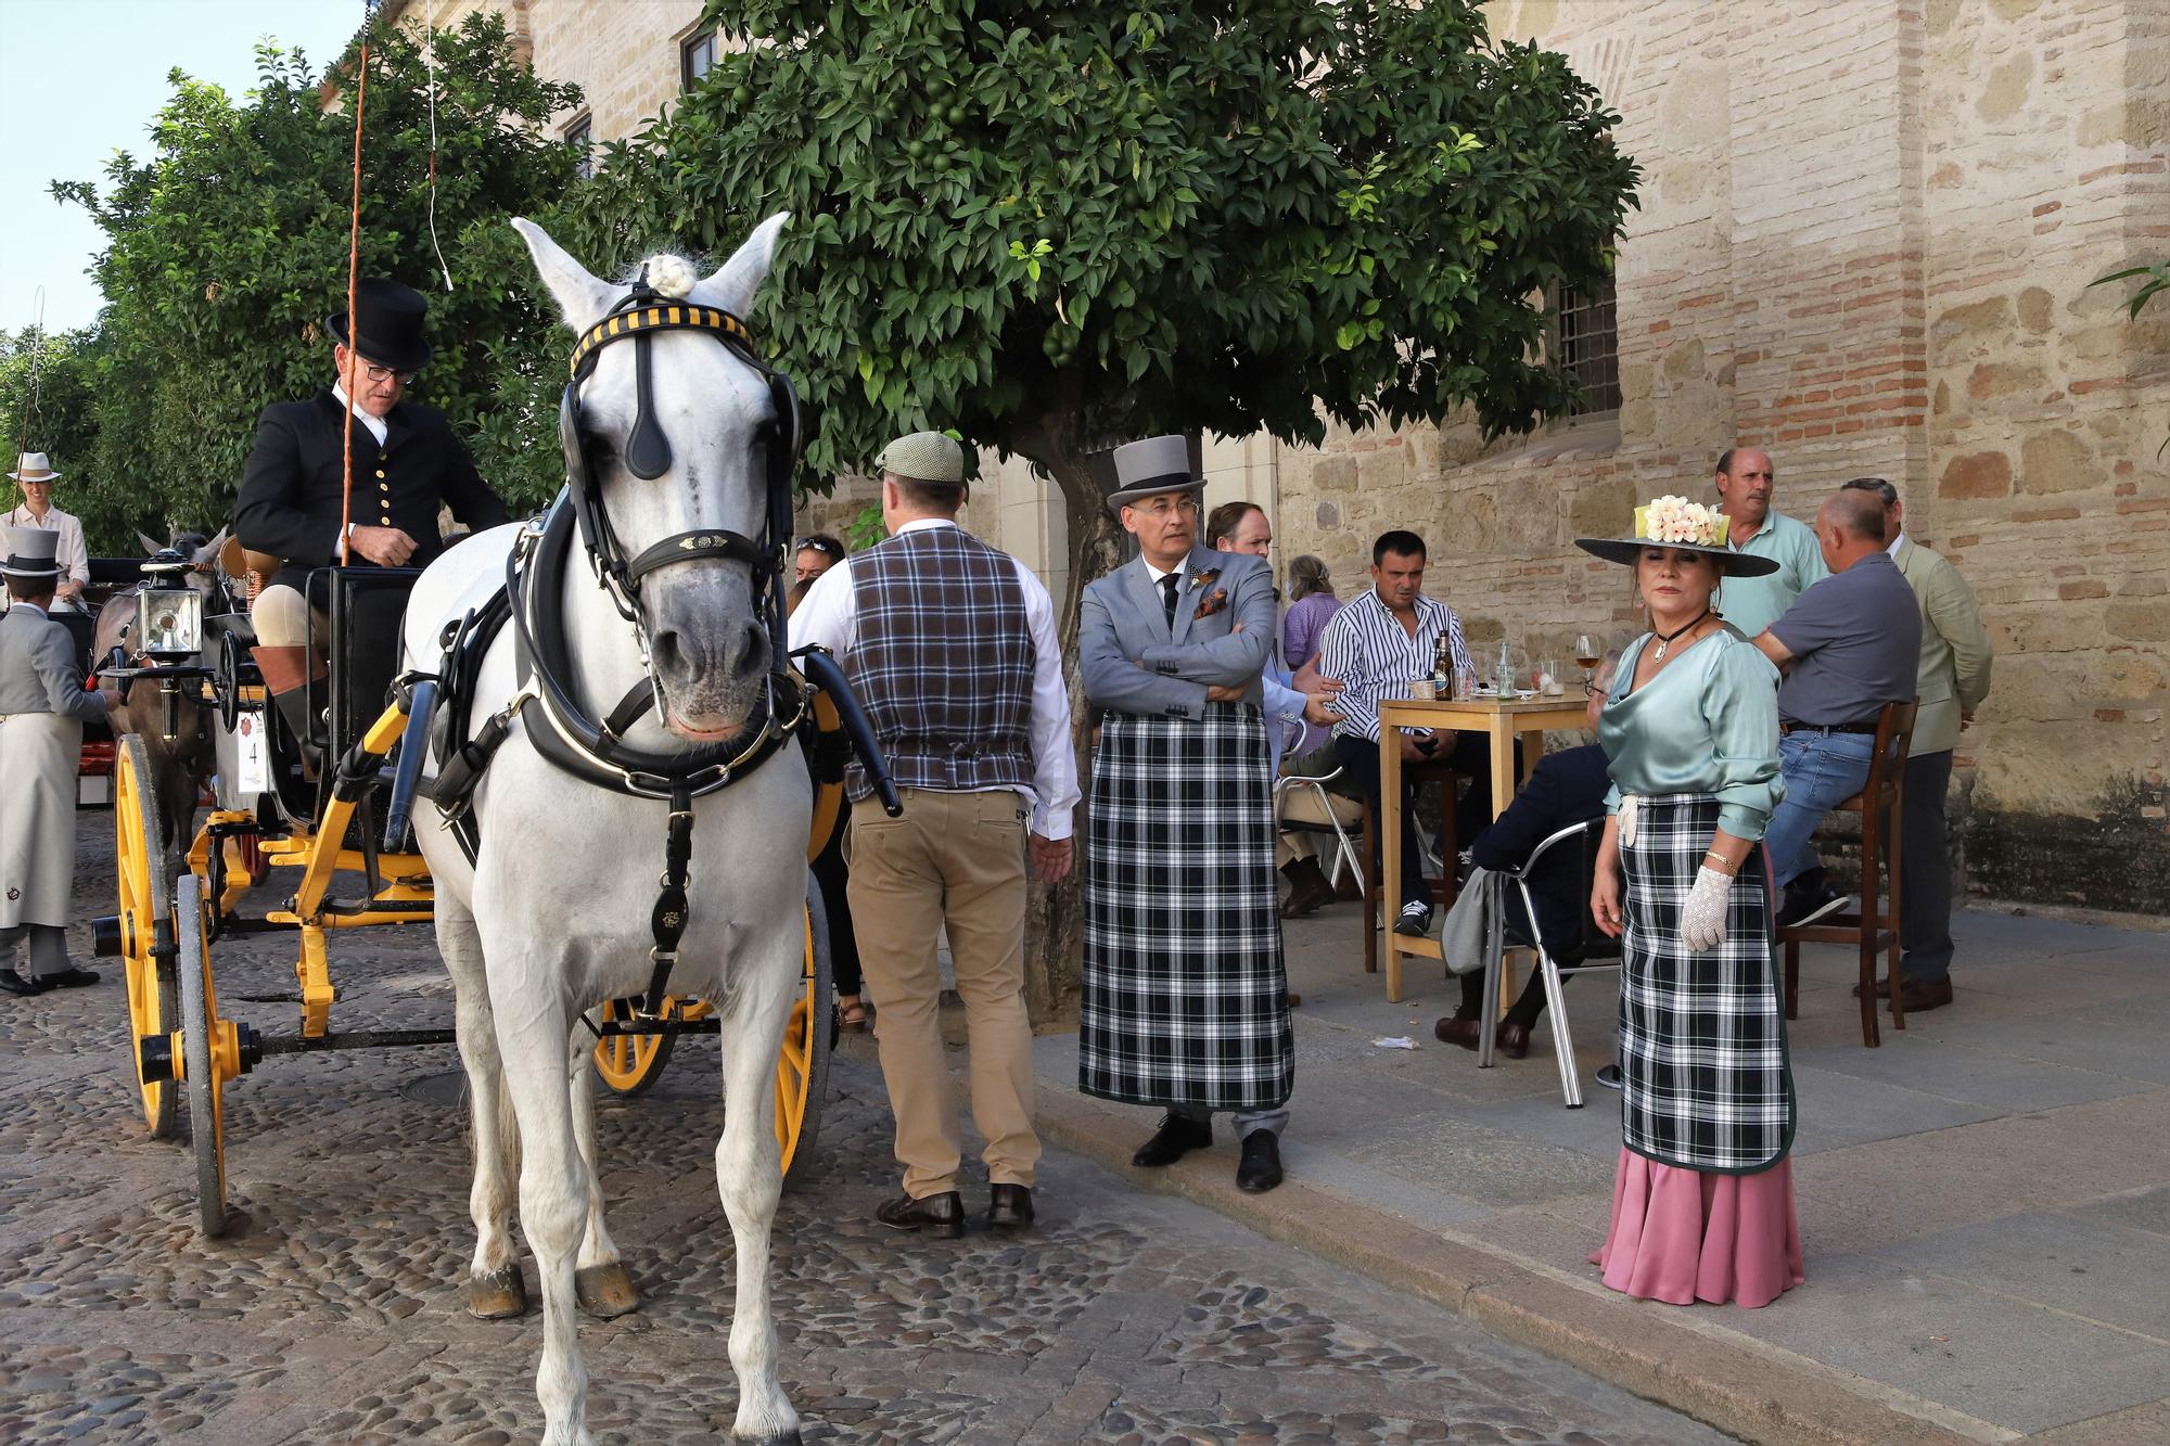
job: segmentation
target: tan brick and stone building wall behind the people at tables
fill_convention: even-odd
[[[1337,432],[1278,458],[1280,549],[1343,595],[1369,541],[1430,538],[1473,638],[1565,654],[1638,630],[1573,549],[1766,447],[1814,515],[1860,473],[1907,499],[1999,649],[1960,747],[1970,881],[2170,912],[2170,306],[2107,271],[2170,254],[2170,7],[1519,0],[1497,33],[1567,52],[1645,167],[1619,254],[1617,419],[1484,445],[1471,426]]]

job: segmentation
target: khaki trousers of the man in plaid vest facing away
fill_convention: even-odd
[[[1009,790],[905,788],[903,801],[901,819],[883,814],[875,799],[853,803],[844,858],[905,1194],[918,1201],[955,1190],[963,1159],[937,1020],[944,927],[963,999],[972,1122],[987,1140],[987,1181],[1029,1188],[1039,1164],[1033,1027],[1024,1014],[1029,806]]]

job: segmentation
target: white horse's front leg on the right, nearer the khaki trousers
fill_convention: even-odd
[[[796,918],[796,914],[794,914]],[[731,1218],[738,1294],[731,1309],[731,1370],[738,1372],[740,1442],[796,1442],[799,1413],[777,1383],[777,1327],[768,1305],[768,1233],[783,1194],[775,1129],[777,1049],[783,1040],[788,990],[799,984],[799,938],[788,957],[768,951],[723,1012],[723,1140],[716,1142],[716,1188]]]

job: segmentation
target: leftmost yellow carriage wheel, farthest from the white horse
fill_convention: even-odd
[[[128,979],[128,1053],[135,1055],[143,1122],[154,1140],[180,1133],[180,1088],[143,1079],[145,1036],[180,1029],[180,975],[174,944],[174,886],[158,842],[158,799],[150,777],[150,749],[137,734],[122,734],[113,753],[113,858],[122,888],[122,968]]]

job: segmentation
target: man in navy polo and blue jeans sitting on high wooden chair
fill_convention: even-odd
[[[1812,923],[1842,903],[1823,884],[1812,836],[1831,806],[1868,782],[1877,714],[1914,697],[1920,662],[1920,610],[1884,551],[1884,502],[1834,495],[1816,512],[1816,545],[1831,575],[1756,636],[1786,669],[1777,690],[1786,797],[1764,829],[1771,877],[1786,890],[1779,925]]]

